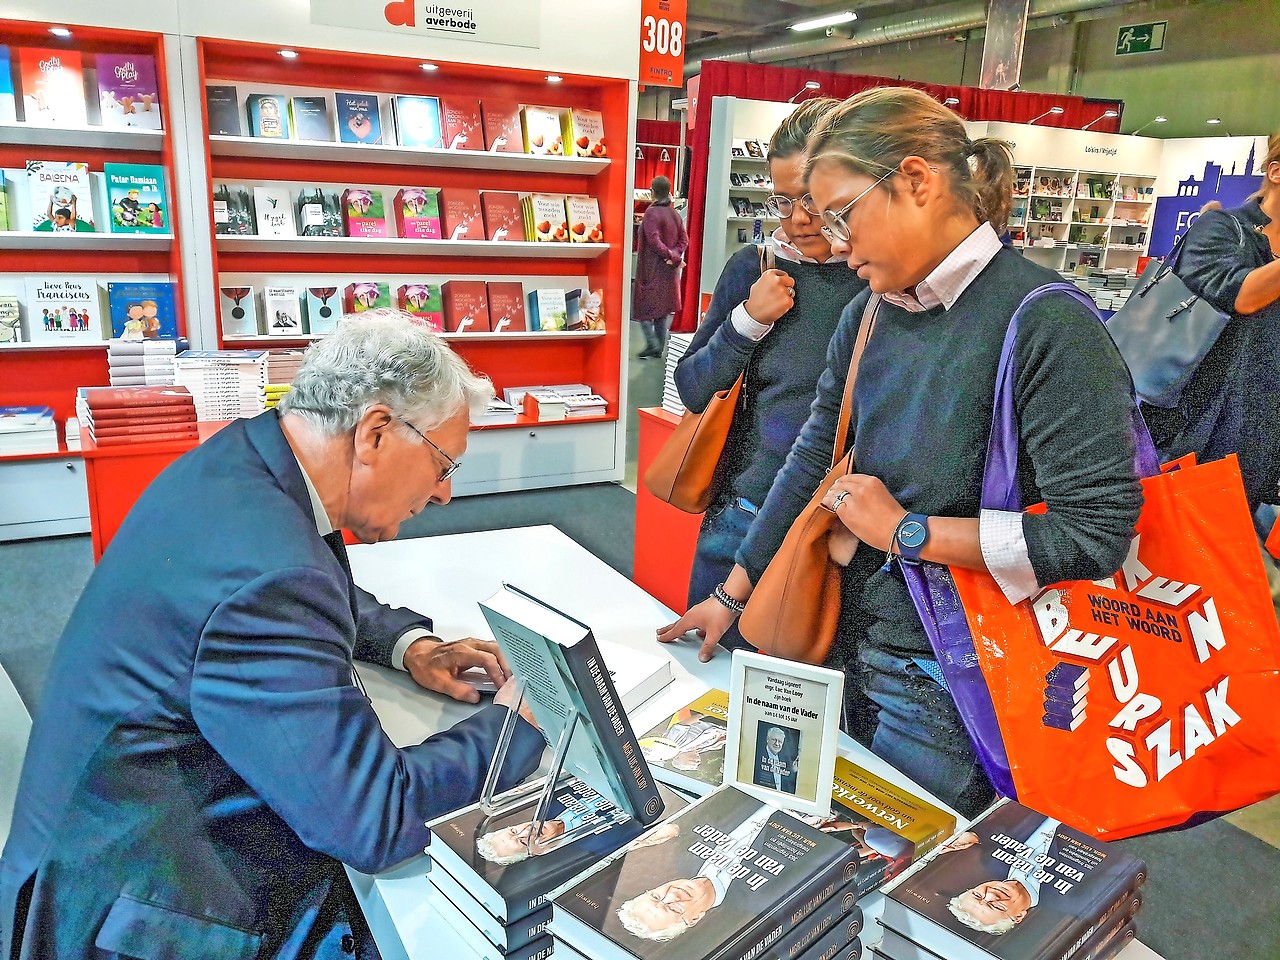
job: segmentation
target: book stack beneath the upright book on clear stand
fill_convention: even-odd
[[[667,810],[685,804],[662,791]],[[479,804],[433,820],[428,900],[475,956],[541,960],[552,954],[548,895],[644,832],[639,820],[575,777],[552,794],[531,840],[535,795],[486,817]]]

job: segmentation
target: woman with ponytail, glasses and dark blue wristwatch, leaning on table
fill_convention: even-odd
[[[877,87],[828,113],[809,137],[808,187],[832,252],[882,301],[861,357],[850,424],[856,474],[823,504],[856,541],[844,568],[828,666],[845,671],[846,728],[966,817],[993,791],[942,685],[902,561],[991,572],[1010,603],[1050,584],[1107,576],[1142,507],[1133,384],[1097,316],[1066,293],[1023,314],[1014,344],[1019,493],[1041,515],[979,508],[996,367],[1014,311],[1052,270],[1002,247],[1009,145],[969,140],[963,120],[916,90]],[[704,635],[737,617],[831,463],[845,380],[870,293],[845,310],[808,422],[713,598],[658,634]],[[918,536],[902,543],[914,521]]]

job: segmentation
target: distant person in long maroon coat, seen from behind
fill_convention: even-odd
[[[689,234],[671,206],[671,180],[654,177],[653,202],[644,211],[636,238],[636,276],[631,293],[631,319],[644,332],[641,358],[660,357],[680,312],[680,268],[689,250]]]

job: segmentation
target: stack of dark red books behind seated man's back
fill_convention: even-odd
[[[186,387],[81,387],[76,415],[99,447],[200,439]]]

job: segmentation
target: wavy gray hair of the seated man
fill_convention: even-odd
[[[398,310],[370,310],[342,316],[311,344],[280,413],[334,435],[385,403],[426,431],[462,410],[477,416],[493,396],[489,379],[471,372],[439,334]]]

